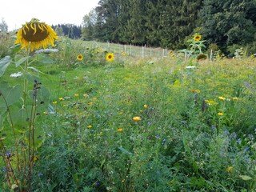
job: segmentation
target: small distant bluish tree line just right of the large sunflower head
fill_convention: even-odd
[[[58,36],[68,36],[69,38],[81,38],[82,26],[75,26],[72,24],[58,24],[52,26]]]

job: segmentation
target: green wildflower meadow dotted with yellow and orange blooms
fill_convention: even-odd
[[[17,180],[31,191],[256,191],[256,58],[142,58],[69,38],[54,48],[2,52],[1,191],[18,189],[2,159],[17,164],[14,141],[30,133],[30,177]]]

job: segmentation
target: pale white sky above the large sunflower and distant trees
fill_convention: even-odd
[[[1,0],[0,22],[2,18],[8,30],[15,30],[38,18],[48,25],[75,24],[81,25],[82,18],[99,0]]]

